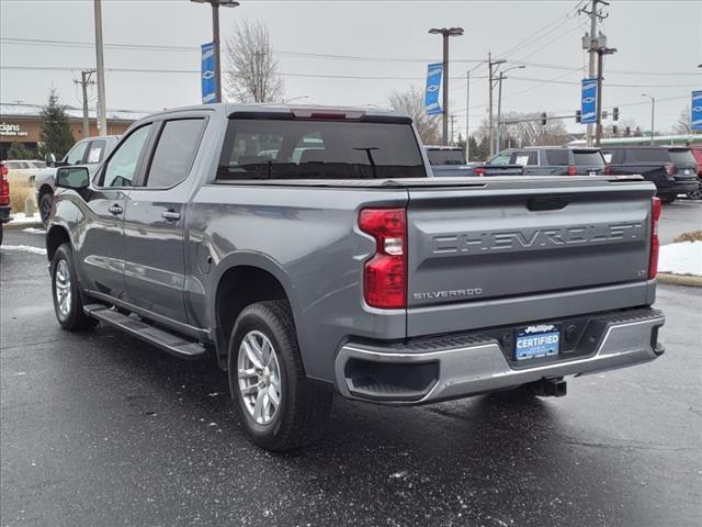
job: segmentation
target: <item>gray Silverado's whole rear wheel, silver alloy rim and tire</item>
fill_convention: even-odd
[[[315,441],[332,393],[303,371],[290,307],[268,301],[246,307],[229,340],[229,391],[251,440],[273,451]]]

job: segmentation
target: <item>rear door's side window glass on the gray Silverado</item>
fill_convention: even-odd
[[[182,119],[163,124],[149,167],[147,187],[169,188],[188,177],[204,123],[204,119]]]

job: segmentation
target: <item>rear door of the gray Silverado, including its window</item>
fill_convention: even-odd
[[[155,127],[145,170],[126,200],[124,277],[134,305],[185,324],[183,225],[205,116]]]

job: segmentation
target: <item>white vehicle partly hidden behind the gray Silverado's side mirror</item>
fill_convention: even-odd
[[[34,178],[34,192],[44,226],[46,226],[48,222],[48,214],[52,211],[52,202],[54,201],[56,168],[68,165],[84,165],[92,171],[110,150],[114,148],[118,141],[118,135],[88,137],[79,141],[68,150],[68,154],[66,154],[60,161],[47,160],[49,168],[36,172]],[[52,155],[48,157],[52,157]]]

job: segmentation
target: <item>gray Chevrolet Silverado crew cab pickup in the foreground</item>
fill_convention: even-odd
[[[650,182],[428,173],[399,113],[155,114],[93,173],[57,171],[56,316],[212,358],[270,450],[318,437],[335,393],[563,395],[663,354]]]

